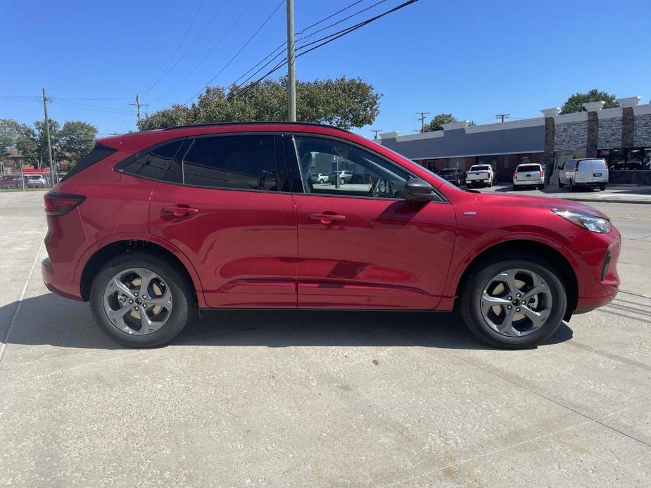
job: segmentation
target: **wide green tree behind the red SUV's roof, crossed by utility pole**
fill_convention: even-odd
[[[296,83],[296,118],[342,129],[372,124],[381,94],[359,78],[317,79]],[[190,107],[172,105],[144,117],[140,130],[200,122],[287,120],[286,78],[259,84],[209,86]]]

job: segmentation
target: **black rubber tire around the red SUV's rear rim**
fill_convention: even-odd
[[[103,307],[104,290],[108,282],[120,271],[129,268],[146,268],[158,274],[172,292],[172,312],[158,330],[146,335],[132,335],[116,328],[108,319]],[[108,337],[127,347],[157,347],[174,339],[190,320],[190,307],[194,306],[192,284],[168,260],[146,252],[127,252],[110,259],[95,276],[90,289],[90,307],[93,317]]]

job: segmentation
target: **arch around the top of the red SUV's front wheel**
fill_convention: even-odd
[[[514,239],[506,242],[496,243],[479,252],[472,261],[462,271],[462,274],[454,288],[454,296],[458,296],[463,290],[470,276],[480,267],[482,262],[491,259],[497,255],[513,255],[514,253],[531,254],[542,257],[545,261],[554,267],[560,274],[560,277],[567,290],[567,311],[564,320],[569,320],[572,312],[576,309],[576,303],[579,300],[579,281],[574,271],[574,266],[569,262],[562,252],[553,248],[551,245],[542,243],[538,240]]]

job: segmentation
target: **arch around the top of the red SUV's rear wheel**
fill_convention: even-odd
[[[163,259],[170,262],[177,267],[182,276],[187,278],[188,282],[192,285],[192,292],[194,293],[195,300],[199,307],[206,307],[203,293],[201,290],[201,281],[196,272],[196,269],[189,262],[187,257],[182,255],[179,250],[173,248],[169,243],[155,242],[151,239],[138,238],[138,239],[125,239],[116,238],[110,242],[103,243],[97,246],[94,250],[88,252],[89,256],[85,259],[83,267],[77,269],[78,283],[80,283],[80,293],[82,300],[87,302],[89,300],[91,283],[96,276],[102,265],[115,256],[121,255],[125,252],[132,251],[150,252],[152,255],[163,257]]]

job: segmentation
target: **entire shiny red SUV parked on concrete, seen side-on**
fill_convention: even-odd
[[[619,286],[619,232],[598,210],[462,191],[317,124],[99,139],[45,206],[47,287],[133,347],[169,342],[195,309],[455,306],[481,340],[530,347]]]

